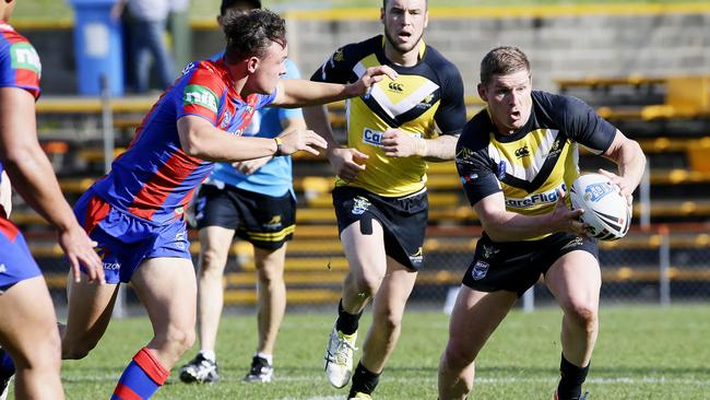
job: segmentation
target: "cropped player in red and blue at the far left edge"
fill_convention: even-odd
[[[35,99],[42,64],[29,42],[8,25],[13,8],[12,0],[0,2],[0,172],[7,170],[15,190],[57,228],[74,279],[82,263],[88,280],[100,282],[104,271],[94,243],[74,219],[37,141]],[[7,397],[16,367],[15,398],[63,399],[51,297],[5,210],[0,211],[0,398]]]

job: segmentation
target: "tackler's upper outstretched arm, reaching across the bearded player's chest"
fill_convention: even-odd
[[[384,79],[397,79],[397,72],[387,66],[370,67],[357,80],[351,84],[321,83],[301,79],[279,80],[276,98],[273,106],[280,107],[305,107],[317,104],[338,102],[345,98],[367,94],[375,83]]]

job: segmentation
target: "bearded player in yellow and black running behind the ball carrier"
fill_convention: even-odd
[[[423,40],[426,0],[384,0],[384,35],[338,49],[311,80],[351,82],[371,64],[392,67],[365,96],[346,103],[347,144],[339,145],[321,108],[308,126],[329,142],[336,175],[333,204],[350,271],[326,352],[326,375],[348,398],[369,398],[401,329],[422,267],[427,224],[427,161],[454,156],[465,123],[458,69]],[[374,320],[353,373],[358,320],[374,302]]]

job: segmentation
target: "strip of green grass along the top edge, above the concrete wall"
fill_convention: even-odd
[[[625,3],[665,4],[702,3],[706,0],[625,0]],[[508,0],[506,5],[549,5],[549,4],[615,4],[617,0]],[[379,0],[264,0],[264,7],[283,10],[323,8],[379,8]],[[430,8],[437,7],[500,5],[499,0],[429,0]],[[220,10],[220,0],[192,0],[192,19],[213,19]],[[62,20],[73,17],[70,1],[64,0],[17,0],[13,20]]]

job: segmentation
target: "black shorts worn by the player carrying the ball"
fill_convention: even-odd
[[[556,233],[540,240],[493,242],[483,233],[463,284],[481,292],[509,291],[521,296],[563,255],[584,250],[599,260],[596,240]]]

